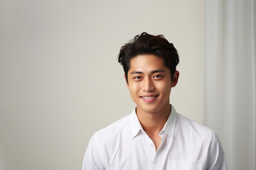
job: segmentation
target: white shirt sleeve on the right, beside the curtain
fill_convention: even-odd
[[[213,132],[213,141],[210,147],[210,154],[208,159],[209,170],[227,170],[227,163],[225,159],[225,154],[223,152],[223,148],[220,144],[220,140],[218,136]]]

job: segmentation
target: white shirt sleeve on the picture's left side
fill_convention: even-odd
[[[82,161],[82,170],[105,170],[95,135],[89,141]]]

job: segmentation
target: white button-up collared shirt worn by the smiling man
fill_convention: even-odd
[[[159,132],[161,145],[146,135],[135,109],[91,137],[82,170],[225,170],[225,154],[213,130],[176,113],[171,108]]]

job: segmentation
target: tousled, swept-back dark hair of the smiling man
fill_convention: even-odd
[[[164,38],[164,35],[155,36],[142,33],[141,35],[136,35],[130,42],[121,47],[118,62],[124,69],[127,83],[130,61],[132,57],[136,57],[137,55],[156,55],[163,58],[164,65],[170,69],[171,80],[173,80],[176,66],[179,62],[178,52],[174,45]]]

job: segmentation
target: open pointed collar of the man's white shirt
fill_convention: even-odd
[[[164,128],[161,130],[159,135],[167,133],[171,138],[174,137],[174,130],[176,127],[176,119],[177,119],[178,113],[176,112],[174,106],[171,106],[171,114],[168,117],[168,120],[166,121]],[[135,108],[132,111],[131,114],[131,131],[132,131],[132,138],[136,137],[139,133],[139,131],[144,131],[142,128],[142,125],[139,123],[139,119],[137,117]]]

